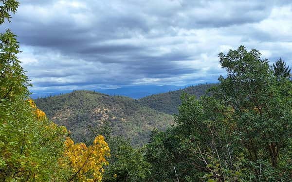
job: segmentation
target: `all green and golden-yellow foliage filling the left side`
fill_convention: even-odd
[[[18,1],[0,2],[1,24],[9,21],[9,12],[16,12]],[[73,145],[70,138],[64,143],[66,128],[50,121],[29,99],[30,84],[17,58],[18,49],[15,34],[9,30],[0,34],[0,181],[93,181],[84,177],[88,171],[100,181],[107,143],[102,136],[89,148]],[[90,164],[78,165],[84,159]]]

